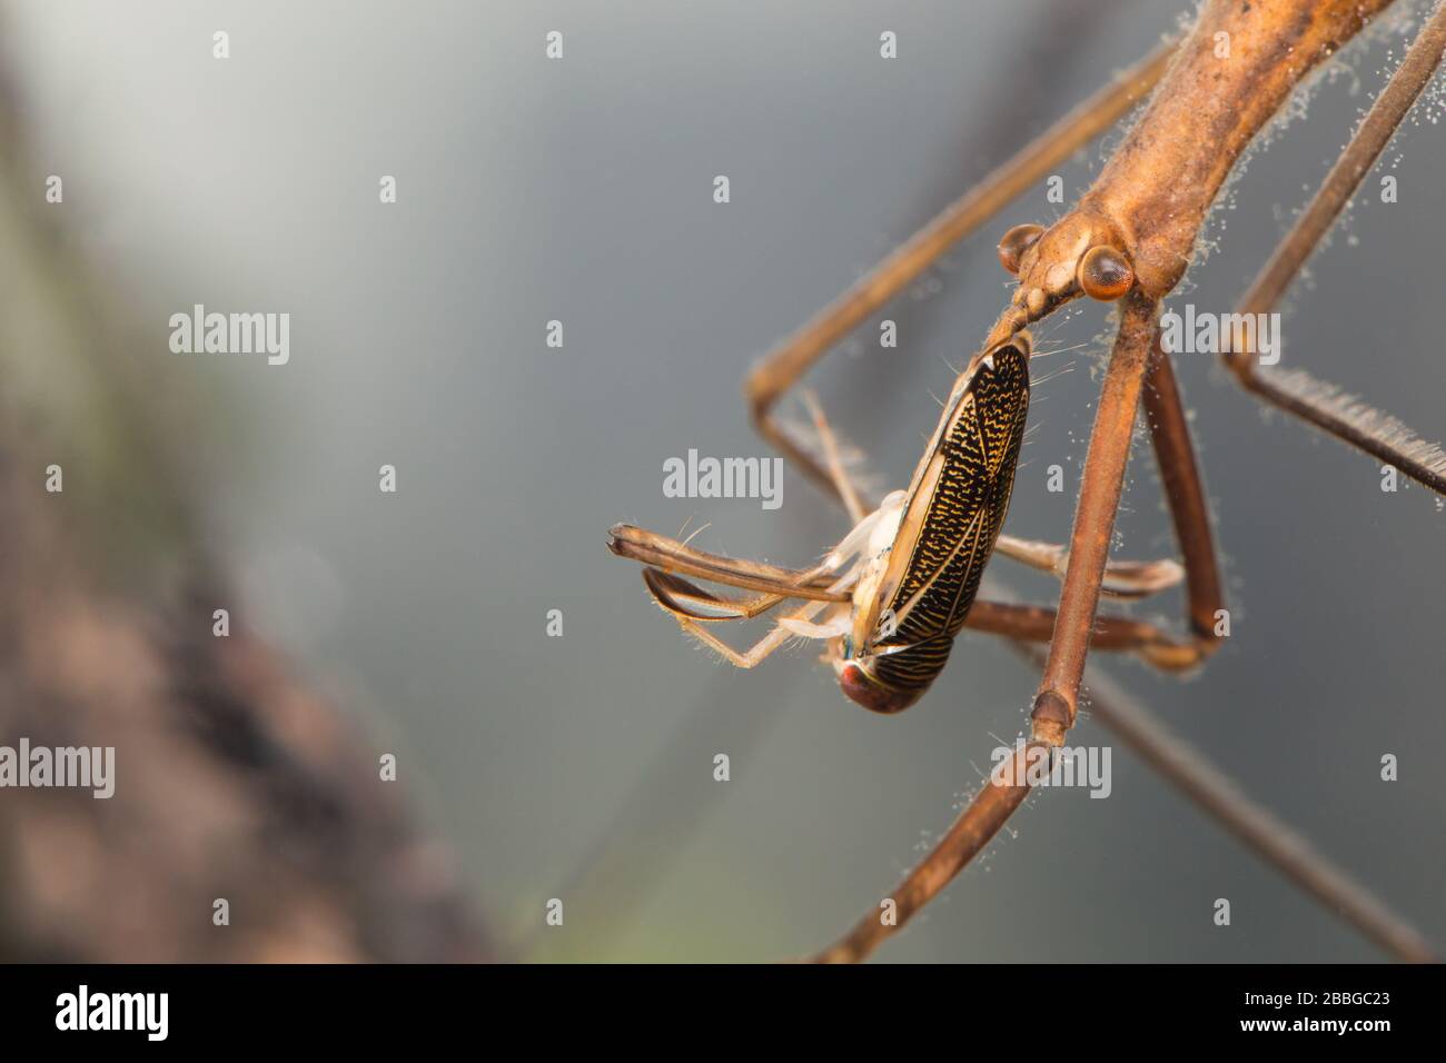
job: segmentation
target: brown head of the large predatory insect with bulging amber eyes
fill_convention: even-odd
[[[1092,210],[1074,210],[1048,229],[1015,226],[999,242],[1001,265],[1019,278],[1015,328],[1087,295],[1113,302],[1135,285],[1135,270],[1116,227]]]

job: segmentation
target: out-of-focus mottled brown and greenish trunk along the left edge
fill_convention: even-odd
[[[116,749],[108,800],[0,790],[0,959],[487,959],[356,723],[234,606],[213,635],[205,396],[149,364],[43,188],[0,84],[0,745]]]

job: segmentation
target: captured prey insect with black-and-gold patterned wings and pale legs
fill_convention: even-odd
[[[827,422],[810,398],[837,490],[856,518],[849,535],[814,568],[790,571],[703,554],[628,525],[612,529],[609,548],[642,561],[643,580],[658,605],[739,667],[753,667],[790,636],[824,639],[824,657],[849,699],[878,713],[902,712],[943,671],[954,638],[970,619],[991,631],[1001,623],[1012,631],[1014,623],[1048,619],[1040,616],[1044,610],[991,602],[977,603],[979,615],[975,612],[979,581],[996,544],[1027,564],[1064,571],[1061,548],[1001,535],[1030,409],[1030,334],[1018,331],[975,356],[944,404],[908,490],[891,492],[866,515]],[[684,574],[761,593],[726,597]],[[1180,579],[1174,561],[1116,563],[1106,574],[1106,590],[1139,596]],[[804,605],[781,618],[746,654],[701,626],[758,616],[788,599]],[[823,622],[814,622],[820,612],[826,613]],[[1102,635],[1131,642],[1161,667],[1193,662],[1192,654],[1180,654],[1148,625],[1106,619]]]

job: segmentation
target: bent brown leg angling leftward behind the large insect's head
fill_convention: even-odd
[[[944,208],[868,276],[849,288],[781,347],[765,356],[743,383],[743,393],[758,432],[814,483],[837,493],[829,470],[772,418],[778,399],[829,349],[898,295],[951,244],[992,218],[1030,185],[1041,181],[1074,152],[1113,126],[1154,88],[1173,55],[1174,45],[1161,45],[1116,77]]]

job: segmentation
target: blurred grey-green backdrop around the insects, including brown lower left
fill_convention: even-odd
[[[1339,56],[1252,155],[1177,307],[1231,308],[1394,68],[1417,7]],[[90,699],[108,722],[72,740],[113,738],[119,765],[101,811],[0,793],[0,944],[12,957],[771,960],[875,907],[1021,732],[1037,675],[964,635],[923,703],[875,717],[811,646],[736,671],[654,607],[606,529],[709,524],[696,545],[787,565],[834,542],[844,518],[791,469],[782,506],[765,511],[665,498],[662,463],[690,448],[769,456],[740,393],[749,364],[1190,10],[0,6],[7,477],[45,509],[33,535],[7,539],[26,606],[12,602],[6,628],[27,649],[7,651],[0,742],[39,742],[55,706]],[[544,56],[549,30],[561,61]],[[894,61],[879,58],[884,30],[898,35]],[[1368,178],[1291,291],[1283,357],[1433,440],[1446,425],[1439,113],[1423,104],[1378,168],[1398,201]],[[898,349],[881,350],[870,321],[811,375],[881,486],[907,484],[933,396],[1008,296],[998,236],[1058,217],[1118,136],[1060,171],[1064,205],[1041,185],[881,314]],[[64,178],[64,202],[45,201],[48,175]],[[395,204],[379,202],[383,175]],[[716,175],[730,181],[723,205]],[[289,364],[172,354],[168,320],[198,302],[289,312]],[[561,349],[545,344],[551,320]],[[1067,537],[1109,334],[1099,305],[1037,333],[1057,353],[1035,369],[1015,535]],[[1267,415],[1213,359],[1181,356],[1177,372],[1232,638],[1189,681],[1098,662],[1446,940],[1446,788],[1430,755],[1446,740],[1446,513],[1404,480],[1384,493],[1377,463]],[[52,460],[64,496],[33,495]],[[1045,490],[1056,463],[1064,493]],[[377,489],[383,464],[395,495]],[[1118,541],[1126,557],[1174,550],[1145,447]],[[1004,560],[991,576],[1031,600],[1057,593]],[[95,610],[64,667],[65,638],[25,628],[55,581]],[[241,649],[211,646],[223,599]],[[547,633],[554,609],[561,638]],[[1180,600],[1134,613],[1177,623]],[[231,720],[211,746],[226,756],[175,768],[189,696],[110,671],[134,661],[130,632],[156,631],[152,646],[189,638],[201,657],[236,658],[211,661],[215,681],[285,704],[268,717],[272,742],[299,743],[299,761],[237,768]],[[107,651],[107,638],[121,642]],[[56,694],[81,658],[84,690]],[[45,683],[22,674],[52,664]],[[272,670],[285,696],[257,687]],[[162,697],[147,690],[175,703],[149,727],[134,722]],[[147,735],[161,736],[150,752]],[[1073,739],[1111,743],[1089,719]],[[376,782],[379,752],[398,758],[395,785]],[[730,756],[730,781],[714,781],[714,754]],[[1379,778],[1385,754],[1397,782]],[[236,785],[296,764],[301,798]],[[215,787],[234,808],[200,797],[215,788],[207,765],[224,767]],[[879,959],[1379,959],[1124,748],[1112,767],[1108,800],[1031,800]],[[84,830],[58,834],[74,808]],[[325,832],[343,840],[318,849]],[[210,898],[243,879],[269,907],[233,905],[230,940],[246,944],[220,947]],[[1229,927],[1212,921],[1220,897]],[[549,898],[564,901],[561,927],[544,926]],[[176,920],[194,926],[162,947]]]

